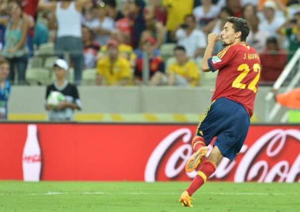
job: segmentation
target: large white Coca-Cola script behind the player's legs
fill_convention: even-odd
[[[184,172],[186,161],[192,155],[192,132],[188,128],[178,129],[167,135],[154,148],[148,159],[145,169],[145,181],[154,182],[156,173],[162,158],[166,158],[164,175],[167,178],[175,178],[180,173]],[[181,140],[179,138],[182,138]],[[288,161],[287,156],[283,155],[287,146],[287,138],[291,141],[300,141],[299,130],[272,130],[261,136],[253,144],[248,146],[243,145],[238,160],[230,161],[223,158],[211,178],[222,179],[233,175],[234,182],[257,181],[257,182],[295,182],[300,175],[300,153],[296,151],[296,157],[293,161]],[[290,142],[289,140],[289,142]],[[174,142],[181,142],[181,145],[170,152],[170,146]],[[296,143],[299,146],[299,143]],[[207,155],[210,154],[212,146],[209,146]],[[292,157],[293,155],[289,155]],[[282,157],[284,157],[282,159]],[[274,160],[274,158],[276,158]],[[279,159],[280,158],[280,159]],[[291,160],[291,159],[290,159]],[[235,170],[234,173],[233,170]],[[189,178],[194,178],[196,171],[185,173]]]

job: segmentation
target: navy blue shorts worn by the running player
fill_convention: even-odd
[[[250,117],[241,104],[219,98],[208,107],[196,134],[204,138],[206,145],[217,137],[214,145],[224,157],[233,160],[246,139],[249,126]]]

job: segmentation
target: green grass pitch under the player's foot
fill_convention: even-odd
[[[300,183],[208,182],[183,208],[188,184],[0,181],[0,212],[300,212]]]

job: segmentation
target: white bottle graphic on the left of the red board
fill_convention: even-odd
[[[41,149],[37,138],[37,127],[36,125],[28,125],[23,149],[23,180],[40,181],[41,166]]]

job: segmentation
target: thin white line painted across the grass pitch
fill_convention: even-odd
[[[154,193],[154,192],[124,192],[124,193],[110,193],[110,192],[46,192],[46,193],[28,193],[28,194],[5,194],[0,193],[0,195],[178,195],[178,193],[170,193],[170,192],[160,192],[160,193]],[[299,196],[299,194],[292,194],[292,193],[226,193],[226,192],[211,192],[206,193],[208,195],[256,195],[256,196],[264,196],[264,195],[274,195],[274,196],[284,196],[284,195],[293,195],[293,196]]]

